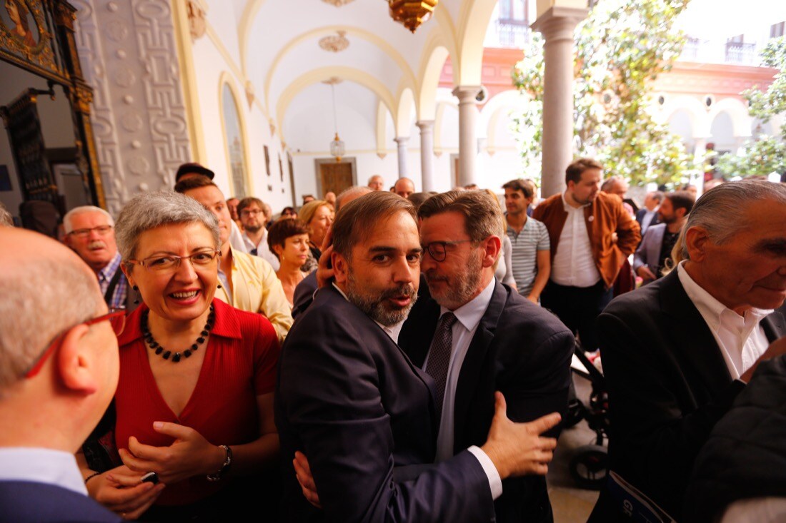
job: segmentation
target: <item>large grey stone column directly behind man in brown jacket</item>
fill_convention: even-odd
[[[573,161],[573,30],[589,9],[553,6],[538,16],[534,31],[545,40],[543,79],[542,196],[562,192],[565,167]]]

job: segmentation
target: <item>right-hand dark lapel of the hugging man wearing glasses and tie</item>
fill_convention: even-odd
[[[464,363],[461,364],[461,371],[458,375],[456,386],[456,399],[454,401],[454,452],[465,448],[462,443],[465,434],[469,408],[472,398],[476,397],[476,390],[483,376],[486,353],[494,341],[494,333],[497,331],[502,311],[505,309],[508,292],[501,283],[494,283],[494,294],[491,294],[491,301],[480,319],[472,342],[469,343]],[[458,448],[461,447],[461,448]]]

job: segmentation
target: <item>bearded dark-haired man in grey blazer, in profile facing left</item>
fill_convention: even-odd
[[[663,269],[671,260],[671,250],[695,202],[687,191],[670,192],[663,199],[658,209],[659,222],[647,229],[634,253],[634,271],[644,283],[663,276]]]

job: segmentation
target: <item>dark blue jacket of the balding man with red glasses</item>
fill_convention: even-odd
[[[117,514],[68,488],[0,481],[0,523],[119,523]]]

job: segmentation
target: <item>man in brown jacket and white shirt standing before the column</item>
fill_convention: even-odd
[[[603,166],[580,158],[565,170],[565,192],[545,199],[532,218],[551,241],[551,276],[541,305],[551,309],[589,351],[597,349],[595,319],[612,299],[612,285],[641,240],[638,223],[619,196],[601,192]]]

